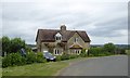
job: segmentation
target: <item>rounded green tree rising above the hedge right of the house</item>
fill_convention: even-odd
[[[105,43],[103,47],[104,51],[109,52],[109,53],[115,53],[116,46],[114,43]]]

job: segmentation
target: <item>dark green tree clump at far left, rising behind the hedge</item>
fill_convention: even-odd
[[[3,36],[0,41],[2,41],[2,56],[4,56],[5,53],[9,54],[20,52],[22,48],[29,50],[25,41],[21,38],[10,39],[9,37]]]

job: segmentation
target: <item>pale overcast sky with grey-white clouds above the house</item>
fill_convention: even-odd
[[[128,0],[1,0],[0,37],[35,44],[38,29],[86,30],[91,44],[128,43]]]

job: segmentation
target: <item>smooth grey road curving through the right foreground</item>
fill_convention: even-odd
[[[60,76],[128,76],[128,56],[87,58],[66,67]]]

